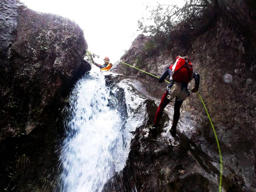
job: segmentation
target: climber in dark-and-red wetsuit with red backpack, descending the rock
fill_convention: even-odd
[[[167,85],[166,91],[161,99],[159,107],[155,113],[154,124],[151,129],[153,132],[156,132],[158,123],[163,115],[164,108],[170,101],[176,98],[174,103],[174,113],[173,113],[173,124],[170,128],[170,133],[173,137],[176,135],[176,127],[179,121],[180,116],[180,107],[183,101],[190,95],[188,91],[188,83],[194,78],[195,87],[192,89],[192,92],[197,92],[199,88],[200,76],[198,73],[195,73],[192,68],[192,64],[189,62],[189,57],[180,57],[176,58],[175,64],[171,65],[164,70],[164,73],[159,79],[159,83],[164,82],[164,79],[167,76],[170,76],[170,84]],[[180,62],[180,66],[179,66]],[[173,78],[175,76],[175,78]],[[174,80],[176,79],[176,80]]]

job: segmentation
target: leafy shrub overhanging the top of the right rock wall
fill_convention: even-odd
[[[215,21],[216,0],[185,0],[183,7],[175,4],[147,7],[149,17],[138,21],[139,30],[153,36],[155,44],[169,47],[177,38],[187,41],[204,32]],[[148,23],[153,23],[148,25]],[[151,49],[149,43],[147,49]]]

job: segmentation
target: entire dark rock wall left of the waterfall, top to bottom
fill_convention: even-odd
[[[8,183],[10,190],[16,180],[22,186],[16,191],[30,191],[32,182],[48,181],[56,163],[58,98],[74,77],[90,70],[83,61],[87,43],[75,22],[16,0],[0,2],[0,23],[0,190]],[[17,166],[24,160],[28,171],[21,176]]]

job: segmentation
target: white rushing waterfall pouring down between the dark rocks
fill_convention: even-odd
[[[128,155],[127,133],[116,109],[110,109],[110,90],[102,73],[92,71],[75,85],[66,109],[66,135],[60,155],[58,191],[101,191]],[[113,98],[112,98],[113,99]]]

